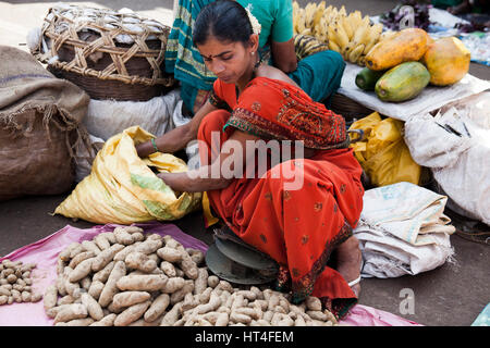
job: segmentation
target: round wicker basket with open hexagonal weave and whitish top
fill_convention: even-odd
[[[163,69],[169,33],[136,13],[59,3],[32,53],[90,98],[145,101],[175,84]]]

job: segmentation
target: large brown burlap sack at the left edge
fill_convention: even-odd
[[[70,189],[88,102],[29,53],[0,46],[0,200]]]

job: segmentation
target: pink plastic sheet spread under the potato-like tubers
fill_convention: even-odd
[[[194,248],[206,251],[208,246],[184,232],[173,224],[145,223],[133,224],[145,229],[145,233],[157,233],[161,236],[171,235],[185,248]],[[61,250],[73,241],[93,239],[102,232],[112,232],[117,224],[94,226],[87,229],[79,229],[66,225],[52,235],[36,243],[12,251],[8,256],[0,258],[12,261],[21,260],[24,263],[34,262],[37,268],[33,271],[33,288],[40,294],[57,278],[57,258]],[[341,322],[353,326],[414,326],[415,322],[405,320],[389,312],[380,311],[367,306],[356,304],[345,320]],[[51,326],[53,320],[45,313],[42,300],[36,303],[12,303],[0,306],[0,326]]]

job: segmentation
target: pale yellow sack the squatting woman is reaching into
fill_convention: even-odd
[[[108,139],[94,160],[90,175],[78,183],[54,214],[98,224],[131,224],[176,220],[199,209],[203,194],[175,194],[150,169],[186,172],[184,161],[160,152],[144,160],[137,156],[135,144],[151,138],[151,134],[133,126]]]

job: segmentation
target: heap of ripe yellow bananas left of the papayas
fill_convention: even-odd
[[[311,35],[328,44],[331,50],[342,54],[345,61],[364,66],[365,55],[380,40],[382,24],[371,24],[369,16],[360,11],[346,13],[324,1],[318,5],[308,3],[305,9],[293,2],[293,24],[295,34]]]

